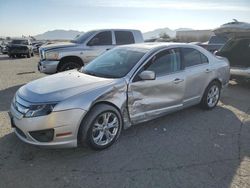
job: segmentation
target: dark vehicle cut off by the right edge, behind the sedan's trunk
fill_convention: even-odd
[[[250,78],[250,36],[230,39],[215,54],[229,60],[233,77]]]

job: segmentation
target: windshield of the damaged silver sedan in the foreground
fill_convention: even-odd
[[[116,48],[97,57],[80,71],[105,78],[122,78],[145,55],[145,50]]]

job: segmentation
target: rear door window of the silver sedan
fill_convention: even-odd
[[[208,58],[204,54],[193,48],[183,48],[182,54],[185,67],[191,67],[209,62]]]

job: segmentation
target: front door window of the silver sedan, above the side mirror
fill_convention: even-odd
[[[154,71],[156,77],[181,70],[179,50],[166,50],[156,54],[145,69]]]

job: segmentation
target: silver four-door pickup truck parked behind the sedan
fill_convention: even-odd
[[[137,30],[89,31],[71,43],[42,46],[38,69],[40,72],[52,74],[80,68],[117,45],[142,42],[142,34]]]

